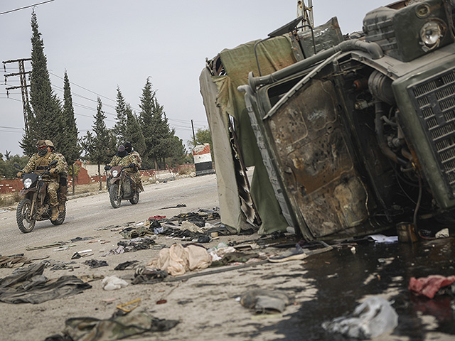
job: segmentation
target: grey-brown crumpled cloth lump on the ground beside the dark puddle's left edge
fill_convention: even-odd
[[[257,314],[282,313],[290,303],[289,296],[282,291],[255,289],[248,291],[240,298],[245,308],[255,310]]]

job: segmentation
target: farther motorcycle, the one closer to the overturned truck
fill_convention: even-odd
[[[119,208],[122,200],[129,200],[132,205],[139,202],[139,190],[134,185],[134,180],[124,170],[134,167],[134,164],[128,166],[113,166],[110,169],[110,176],[107,180],[109,185],[109,200],[112,207]]]

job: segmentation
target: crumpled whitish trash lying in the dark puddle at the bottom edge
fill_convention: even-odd
[[[322,328],[357,339],[389,334],[398,325],[398,315],[392,305],[382,297],[367,298],[348,317],[334,318],[324,322]]]

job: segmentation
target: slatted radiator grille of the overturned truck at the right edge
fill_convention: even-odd
[[[410,94],[446,185],[455,196],[455,70],[413,85]]]

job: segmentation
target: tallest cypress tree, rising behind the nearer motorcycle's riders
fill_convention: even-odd
[[[59,149],[65,141],[63,113],[60,100],[53,92],[44,54],[44,43],[38,30],[35,11],[31,16],[31,74],[30,74],[30,104],[28,108],[28,130],[20,143],[28,156],[36,152],[38,139],[53,141]]]

